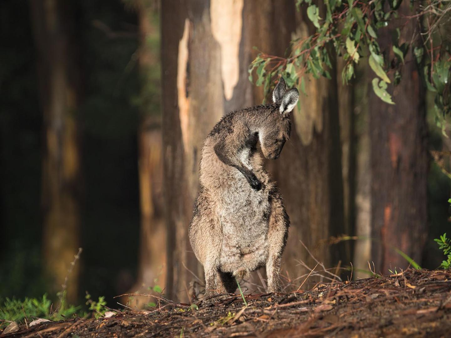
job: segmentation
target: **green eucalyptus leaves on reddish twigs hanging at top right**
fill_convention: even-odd
[[[451,43],[446,32],[446,23],[451,19],[450,0],[431,0],[424,5],[410,0],[408,16],[398,10],[402,0],[324,0],[321,7],[313,2],[296,0],[296,7],[298,10],[307,7],[307,17],[316,30],[314,34],[291,41],[286,58],[260,52],[250,64],[249,79],[253,80],[255,69],[256,84],[264,84],[265,94],[271,89],[271,80],[280,76],[285,78],[288,87],[298,86],[304,93],[305,75],[330,79],[330,59],[334,53],[346,61],[341,74],[344,83],[354,77],[354,64],[368,62],[375,76],[374,93],[384,102],[395,104],[387,88],[400,83],[400,69],[406,55],[412,53],[425,86],[435,92],[437,122],[451,112],[448,83]],[[418,29],[409,41],[400,41],[406,20],[416,20]],[[387,29],[392,33],[392,46],[381,51],[377,37]]]

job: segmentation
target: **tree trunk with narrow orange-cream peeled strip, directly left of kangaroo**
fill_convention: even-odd
[[[202,141],[224,111],[221,52],[213,37],[209,1],[169,0],[161,5],[166,292],[186,300],[191,273],[202,280],[188,225],[198,192]]]

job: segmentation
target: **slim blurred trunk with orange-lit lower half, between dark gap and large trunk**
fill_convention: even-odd
[[[139,270],[130,290],[146,292],[148,287],[165,285],[166,232],[162,219],[162,158],[160,111],[159,9],[157,1],[135,0],[138,14],[141,77],[141,123],[138,130],[138,170],[141,210]],[[148,297],[134,297],[129,306],[142,307]]]

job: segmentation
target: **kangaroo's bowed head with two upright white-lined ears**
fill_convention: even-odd
[[[263,155],[268,160],[276,160],[281,154],[285,141],[290,137],[290,112],[299,100],[299,91],[292,88],[286,90],[283,78],[277,83],[272,100],[277,109],[273,110],[258,132]]]

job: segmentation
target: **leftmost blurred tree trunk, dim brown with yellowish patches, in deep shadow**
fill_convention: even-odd
[[[42,161],[43,251],[55,291],[66,284],[79,246],[80,154],[76,111],[80,96],[76,9],[69,1],[31,0],[44,119]],[[78,266],[69,275],[67,295],[78,293]]]

